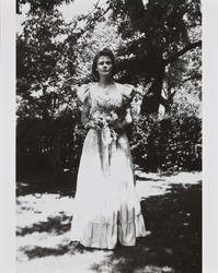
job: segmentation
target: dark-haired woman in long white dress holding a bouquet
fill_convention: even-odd
[[[115,58],[100,51],[92,66],[99,82],[81,87],[81,122],[89,129],[82,150],[71,240],[84,247],[135,246],[146,236],[126,127],[133,121],[133,86],[115,83]]]

